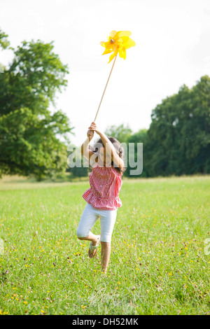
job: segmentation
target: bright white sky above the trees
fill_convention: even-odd
[[[111,71],[100,41],[113,29],[131,31],[136,46],[116,59],[97,117],[102,131],[122,123],[133,132],[148,129],[162,99],[210,75],[209,0],[0,0],[0,27],[15,48],[24,40],[55,41],[53,51],[70,71],[56,109],[75,127],[69,137],[76,146],[86,139]],[[12,58],[0,52],[1,63]]]

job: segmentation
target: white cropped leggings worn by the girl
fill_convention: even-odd
[[[111,235],[113,232],[114,225],[116,223],[117,210],[99,210],[86,204],[83,211],[80,223],[76,230],[77,237],[87,237],[92,229],[92,226],[101,218],[101,241],[111,243]]]

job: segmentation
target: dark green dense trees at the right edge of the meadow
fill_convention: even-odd
[[[149,176],[210,173],[210,78],[158,104],[148,130]]]

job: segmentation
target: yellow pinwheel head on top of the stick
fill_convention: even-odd
[[[129,37],[130,35],[131,35],[130,31],[118,31],[118,32],[111,31],[109,36],[107,37],[108,41],[100,42],[100,45],[102,45],[105,48],[102,55],[113,52],[113,54],[109,57],[109,62],[111,62],[111,60],[116,55],[118,55],[119,52],[119,56],[125,59],[126,49],[136,45],[136,43],[134,43],[134,41]]]

